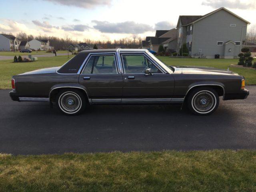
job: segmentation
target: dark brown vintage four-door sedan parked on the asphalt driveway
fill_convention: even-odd
[[[243,76],[211,67],[168,66],[148,50],[84,50],[61,67],[12,77],[14,101],[55,103],[67,115],[94,104],[180,104],[197,115],[245,99]]]

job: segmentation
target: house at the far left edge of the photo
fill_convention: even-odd
[[[0,34],[0,51],[17,51],[20,41],[13,35]]]

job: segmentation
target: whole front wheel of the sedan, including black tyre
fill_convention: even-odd
[[[197,115],[209,115],[219,106],[218,93],[212,88],[197,88],[189,93],[187,104],[191,112]]]

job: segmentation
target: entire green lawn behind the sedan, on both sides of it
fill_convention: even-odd
[[[230,64],[236,64],[237,59],[196,59],[196,58],[169,58],[158,57],[166,64],[172,66],[210,66],[215,68],[228,69],[243,75],[246,78],[246,85],[256,85],[256,70],[234,68]],[[12,60],[0,60],[0,89],[10,89],[10,79],[13,75],[32,71],[40,68],[61,66],[68,60],[67,56],[41,57],[37,62],[13,63]]]

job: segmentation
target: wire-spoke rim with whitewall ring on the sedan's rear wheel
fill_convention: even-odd
[[[74,113],[81,108],[81,98],[74,92],[65,92],[59,99],[60,107],[68,113]]]

